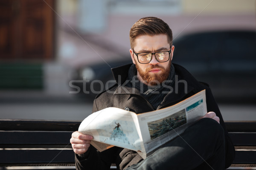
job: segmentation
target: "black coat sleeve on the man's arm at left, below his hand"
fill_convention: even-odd
[[[96,101],[93,102],[93,112],[96,112]],[[82,155],[75,153],[75,164],[77,170],[109,170],[111,163],[116,161],[117,147],[112,147],[103,152],[99,152],[92,145],[88,151]]]

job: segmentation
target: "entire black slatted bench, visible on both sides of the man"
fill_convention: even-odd
[[[79,125],[80,122],[0,119],[0,169],[75,169],[70,137]],[[256,122],[226,125],[236,147],[236,158],[229,169],[256,167]]]

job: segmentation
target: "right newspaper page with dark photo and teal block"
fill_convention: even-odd
[[[207,113],[205,90],[168,108],[138,114],[145,151],[149,153],[184,132]],[[146,157],[148,154],[142,156]]]

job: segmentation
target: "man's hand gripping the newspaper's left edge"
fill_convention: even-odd
[[[83,154],[87,152],[92,139],[93,136],[84,135],[76,131],[72,133],[70,143],[72,144],[73,150],[76,154]]]

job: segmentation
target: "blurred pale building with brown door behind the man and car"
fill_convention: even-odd
[[[255,0],[0,0],[0,98],[69,97],[76,68],[129,57],[129,30],[146,16],[168,23],[174,39],[256,30]]]

